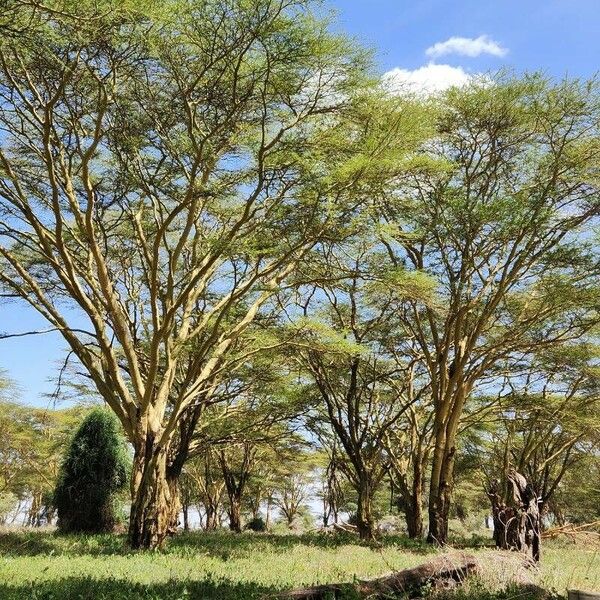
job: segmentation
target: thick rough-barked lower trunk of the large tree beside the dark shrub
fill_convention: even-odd
[[[149,444],[148,444],[149,445]],[[131,477],[129,544],[132,548],[160,548],[173,519],[172,485],[167,478],[167,450],[153,454],[136,451]]]

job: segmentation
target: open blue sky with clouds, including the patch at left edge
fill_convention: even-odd
[[[502,67],[591,77],[600,67],[600,0],[331,0],[339,27],[376,52],[381,72],[443,87]],[[454,38],[454,39],[452,39]],[[458,38],[458,39],[456,39]],[[429,50],[429,53],[427,50]],[[0,306],[0,332],[44,329],[32,310]],[[21,399],[47,404],[64,356],[56,334],[0,340],[0,368]]]

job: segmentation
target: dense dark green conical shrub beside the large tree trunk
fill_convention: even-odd
[[[93,410],[75,433],[54,491],[64,533],[112,531],[115,495],[127,483],[129,459],[116,417]]]

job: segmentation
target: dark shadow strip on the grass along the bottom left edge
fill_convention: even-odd
[[[278,590],[227,579],[131,583],[121,579],[66,577],[11,586],[0,584],[2,600],[258,600]]]

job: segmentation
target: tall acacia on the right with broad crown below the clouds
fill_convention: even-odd
[[[408,301],[401,313],[406,355],[425,365],[435,410],[430,541],[447,540],[474,386],[594,321],[598,260],[586,232],[600,210],[599,109],[594,82],[528,76],[451,90],[427,145],[431,165],[383,203],[392,262],[438,282],[437,305]]]

